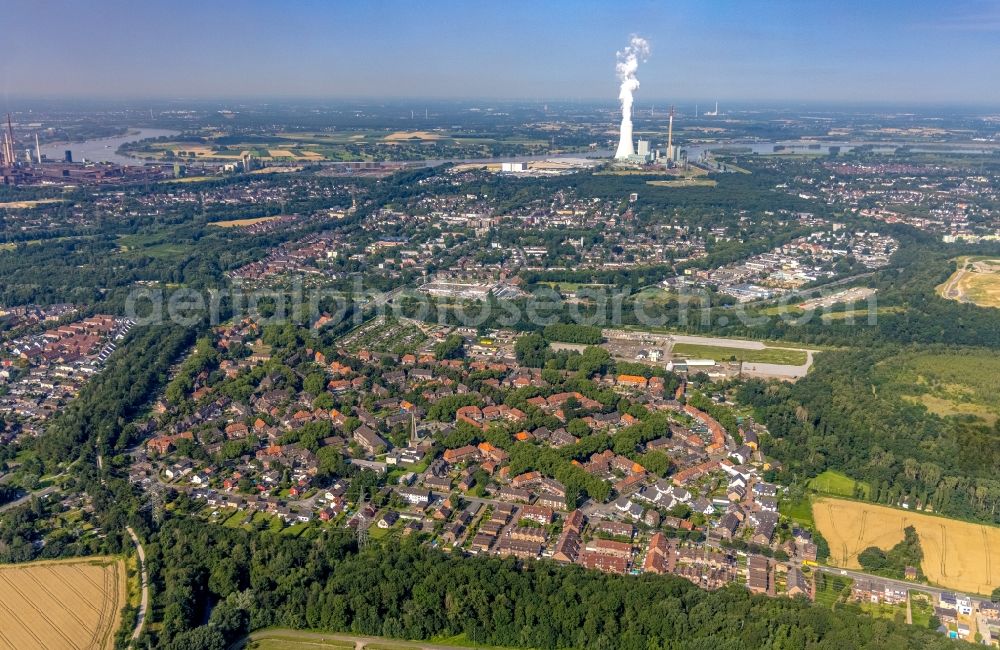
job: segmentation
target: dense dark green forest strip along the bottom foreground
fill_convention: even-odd
[[[937,648],[937,633],[806,600],[703,591],[548,561],[465,558],[389,540],[315,541],[171,519],[147,544],[157,645],[222,650],[268,626],[524,648]],[[211,608],[207,623],[205,614]]]

